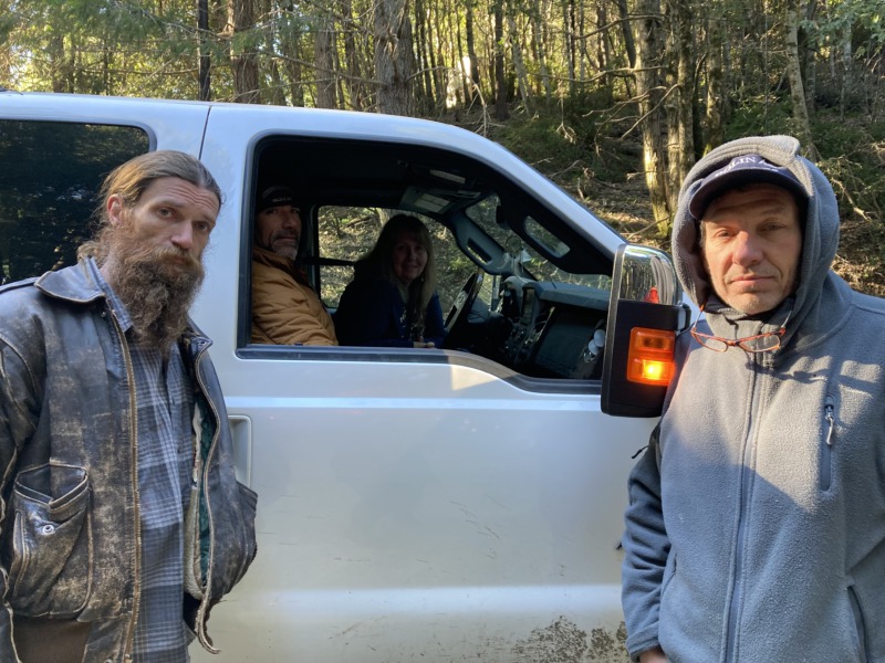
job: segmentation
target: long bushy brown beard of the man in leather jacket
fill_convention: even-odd
[[[128,227],[101,238],[108,280],[132,318],[136,339],[167,352],[187,328],[190,304],[204,278],[202,263],[183,249],[152,246]]]

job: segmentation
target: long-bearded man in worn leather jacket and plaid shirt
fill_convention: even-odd
[[[0,288],[0,660],[188,661],[256,554],[227,411],[187,312],[221,191],[142,155],[80,262]]]

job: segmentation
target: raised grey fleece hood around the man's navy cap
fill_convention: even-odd
[[[809,194],[799,287],[791,315],[795,326],[791,324],[790,327],[795,329],[800,326],[816,305],[839,246],[839,207],[830,181],[814,164],[799,155],[799,140],[791,136],[739,138],[711,150],[689,171],[679,191],[671,251],[679,282],[698,306],[714,293],[698,245],[699,221],[688,211],[688,203],[707,175],[735,157],[749,154],[759,154],[772,164],[788,168]],[[728,307],[721,313],[726,317],[741,317]]]

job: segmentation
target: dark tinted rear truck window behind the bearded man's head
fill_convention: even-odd
[[[137,127],[0,120],[0,281],[75,263],[102,180],[148,148]]]

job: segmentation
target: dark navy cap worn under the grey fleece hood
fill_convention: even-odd
[[[775,166],[761,155],[750,154],[735,157],[701,179],[688,203],[688,211],[695,219],[700,219],[707,206],[726,190],[754,183],[775,185],[790,191],[799,201],[808,199],[802,183],[788,168]]]

